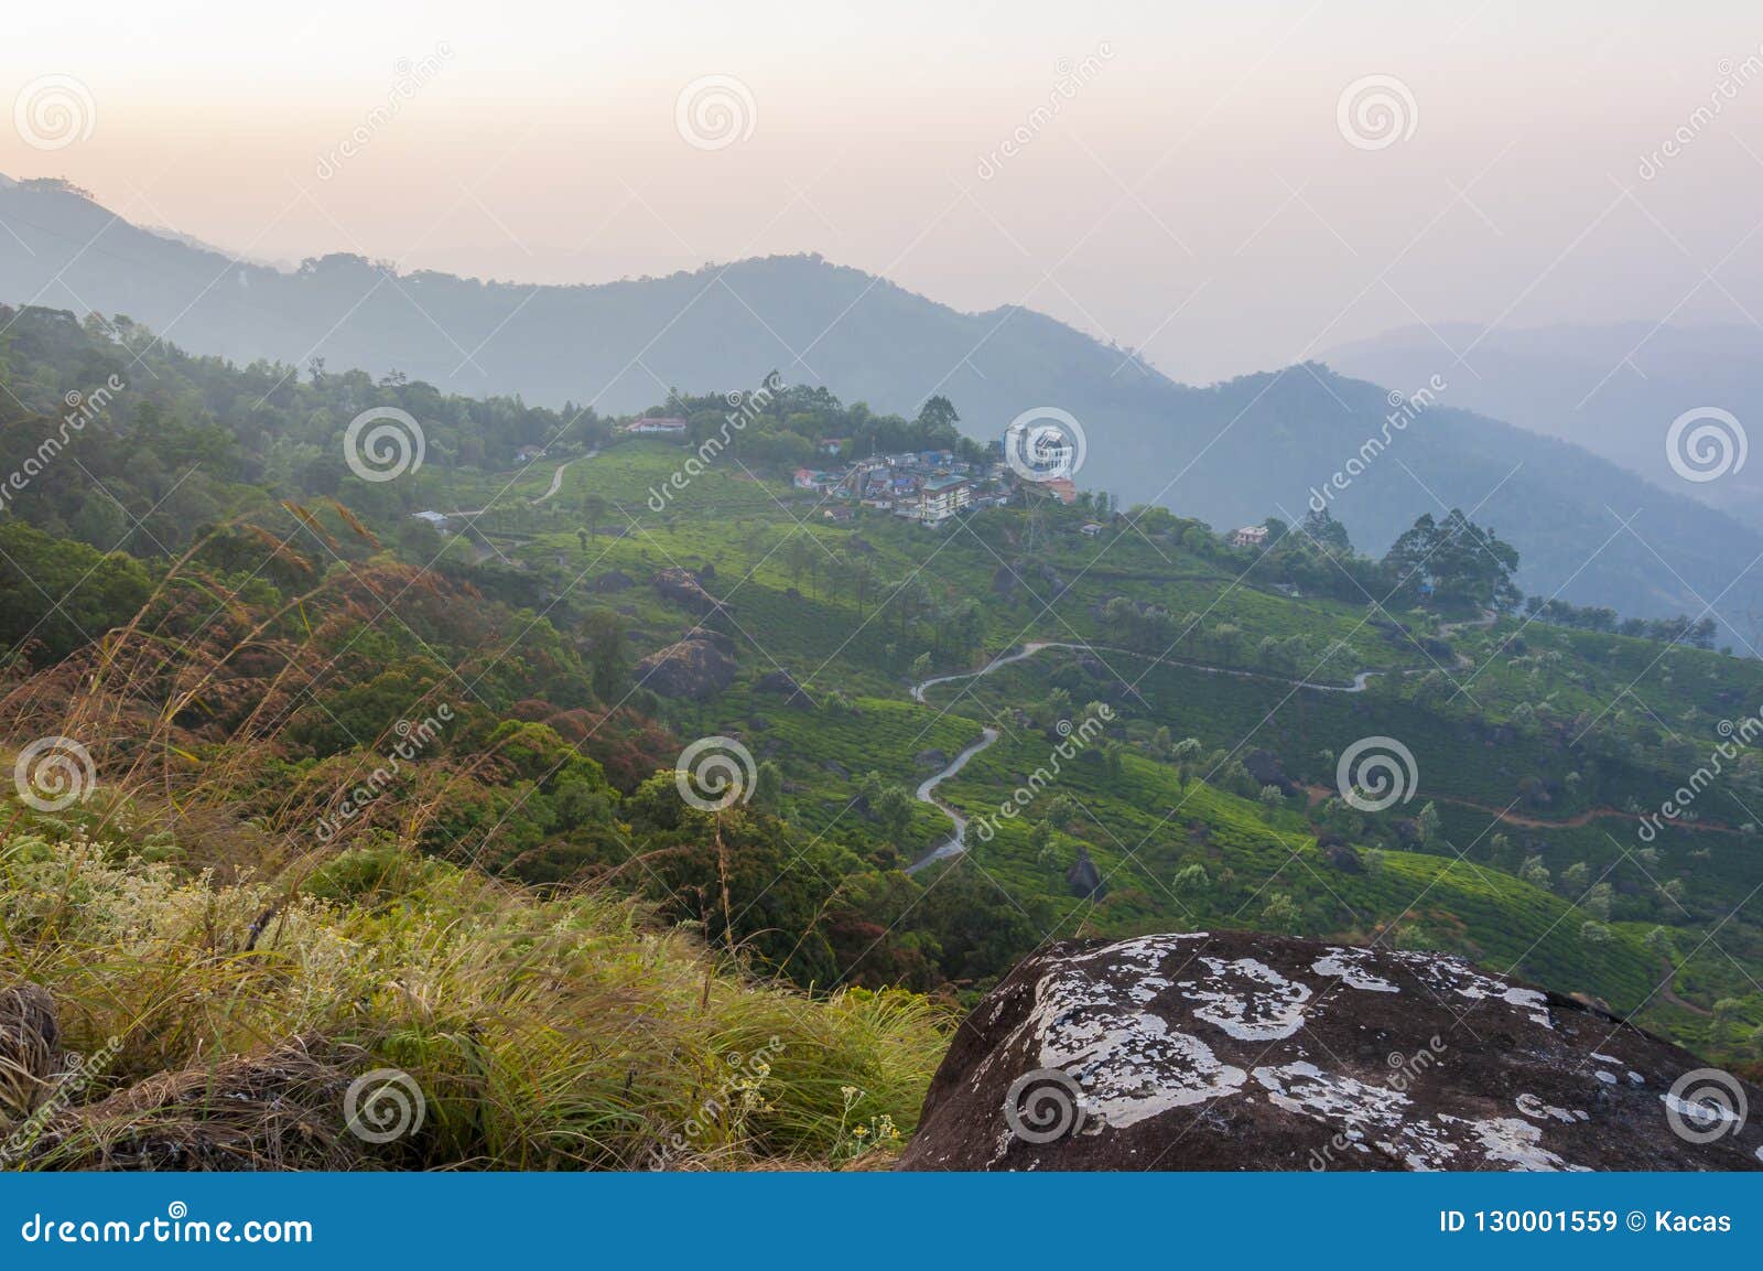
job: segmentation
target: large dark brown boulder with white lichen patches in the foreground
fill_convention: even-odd
[[[1070,941],[970,1015],[901,1169],[1763,1169],[1763,1091],[1712,1112],[1703,1067],[1439,954]]]

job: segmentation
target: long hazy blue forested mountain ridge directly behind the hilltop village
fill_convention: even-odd
[[[1454,409],[1470,400],[1458,383],[1393,428],[1382,388],[1315,363],[1192,388],[1033,310],[963,314],[815,256],[568,287],[397,275],[353,256],[284,273],[42,182],[0,187],[0,301],[127,314],[238,361],[324,358],[601,413],[777,368],[876,411],[913,414],[947,395],[984,439],[1056,405],[1088,437],[1079,485],[1127,504],[1236,525],[1296,520],[1320,501],[1368,550],[1462,506],[1520,548],[1527,591],[1634,615],[1700,615],[1714,601],[1733,629],[1763,613],[1763,582],[1733,578],[1763,555],[1763,534],[1585,450]]]

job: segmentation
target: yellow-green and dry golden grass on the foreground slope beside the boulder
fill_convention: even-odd
[[[81,739],[102,772],[58,816],[0,799],[0,989],[41,985],[58,1031],[49,1079],[0,1100],[0,1163],[844,1167],[911,1130],[948,1022],[926,1000],[807,996],[610,892],[416,853],[494,754],[316,844],[384,739],[268,804],[261,769],[338,631],[434,580],[331,569],[266,610],[199,550],[125,628],[0,682],[0,742]],[[388,1142],[346,1123],[376,1068],[425,1105]]]

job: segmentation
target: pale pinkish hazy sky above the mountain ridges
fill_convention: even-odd
[[[7,14],[0,171],[280,261],[813,250],[1209,381],[1423,319],[1763,314],[1759,46],[1754,2],[81,0]],[[707,76],[732,136],[681,127]],[[1340,118],[1370,76],[1395,132]],[[55,88],[76,136],[25,145]]]

